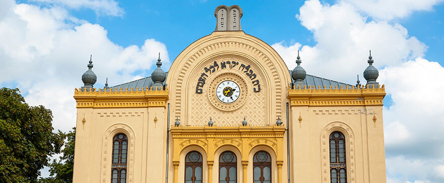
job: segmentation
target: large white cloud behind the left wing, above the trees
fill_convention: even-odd
[[[122,47],[109,40],[103,27],[76,21],[65,9],[13,1],[2,1],[0,7],[5,10],[0,14],[0,83],[17,83],[30,105],[51,109],[55,129],[75,126],[72,96],[83,85],[90,54],[98,77],[95,87],[103,87],[105,77],[115,85],[149,75],[158,52],[163,67],[170,64],[163,43],[147,39],[141,47]]]

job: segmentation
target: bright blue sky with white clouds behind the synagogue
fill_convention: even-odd
[[[359,74],[362,83],[371,49],[386,85],[388,182],[444,182],[444,0],[0,0],[0,87],[20,88],[67,132],[90,54],[95,87],[149,76],[159,52],[167,71],[214,31],[214,9],[234,4],[242,30],[272,45],[289,69],[301,50],[308,74],[350,84]]]

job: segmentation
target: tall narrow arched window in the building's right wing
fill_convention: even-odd
[[[345,137],[341,132],[330,134],[330,181],[331,183],[347,182],[345,156]]]

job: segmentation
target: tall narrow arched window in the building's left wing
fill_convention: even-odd
[[[128,154],[128,138],[119,133],[112,139],[111,183],[126,182],[126,155]]]

